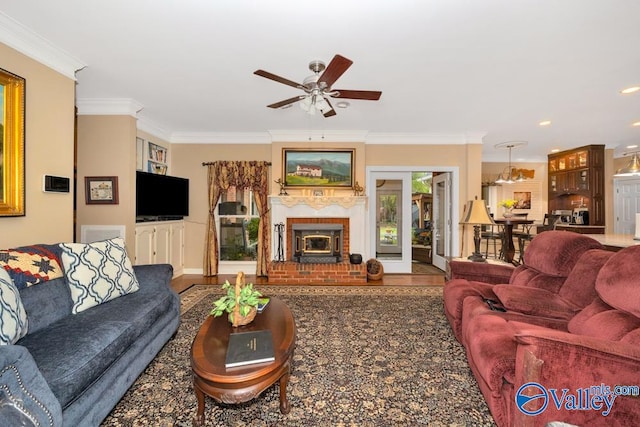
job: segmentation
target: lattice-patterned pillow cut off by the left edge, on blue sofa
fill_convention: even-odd
[[[20,292],[3,268],[0,268],[0,345],[15,344],[27,335],[27,312]]]

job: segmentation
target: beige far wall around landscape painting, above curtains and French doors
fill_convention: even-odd
[[[207,222],[207,168],[216,160],[271,161],[271,194],[278,193],[274,180],[282,176],[283,148],[353,148],[355,180],[365,184],[366,166],[459,166],[460,206],[480,194],[481,145],[365,145],[364,143],[274,142],[272,144],[173,144],[170,174],[189,178],[189,216],[185,218],[185,268],[201,269]],[[464,163],[461,163],[461,159]],[[298,190],[302,191],[302,190]],[[294,194],[296,190],[288,190]],[[342,192],[351,194],[351,190]],[[336,191],[336,194],[339,194]],[[470,237],[470,236],[469,236]],[[470,247],[470,243],[465,243]]]

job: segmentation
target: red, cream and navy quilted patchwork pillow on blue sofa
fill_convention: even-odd
[[[58,245],[31,245],[0,250],[0,267],[18,289],[62,277]]]

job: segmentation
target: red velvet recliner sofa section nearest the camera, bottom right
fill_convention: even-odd
[[[499,426],[638,425],[639,261],[640,246],[587,250],[563,295],[534,289],[527,300],[524,287],[494,285],[505,312],[464,297],[467,358]]]

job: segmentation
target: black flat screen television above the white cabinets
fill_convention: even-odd
[[[182,219],[188,215],[188,179],[136,171],[136,221]]]

